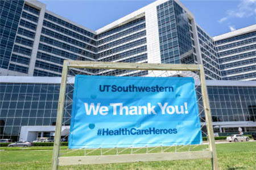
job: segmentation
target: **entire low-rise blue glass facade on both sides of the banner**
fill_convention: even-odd
[[[141,75],[147,74],[146,71],[142,72]],[[22,126],[55,125],[60,84],[0,83],[0,90],[0,138],[18,139]],[[208,86],[208,95],[213,123],[256,121],[255,86]],[[65,125],[70,124],[72,96],[73,86],[68,84],[65,99],[67,109],[63,117]],[[201,98],[200,91],[197,97]],[[199,105],[203,105],[202,101]],[[202,113],[201,121],[204,120]]]

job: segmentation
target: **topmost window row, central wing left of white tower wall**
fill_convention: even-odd
[[[145,22],[145,17],[144,16],[142,18],[135,19],[135,20],[133,20],[129,23],[123,24],[122,26],[110,29],[109,31],[106,31],[104,33],[100,33],[99,35],[97,35],[97,39],[101,39],[102,37],[112,35],[115,32],[119,32],[119,31],[122,31],[123,29],[133,27],[133,25],[137,25],[137,24],[142,23],[142,22]]]

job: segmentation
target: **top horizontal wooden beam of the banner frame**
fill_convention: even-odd
[[[69,68],[88,69],[124,69],[124,70],[168,70],[168,71],[199,71],[199,65],[163,64],[163,63],[127,63],[98,61],[68,61]]]

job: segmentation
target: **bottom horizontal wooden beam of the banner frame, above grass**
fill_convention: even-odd
[[[166,152],[151,154],[123,154],[123,155],[101,155],[101,156],[62,156],[59,157],[59,165],[86,165],[86,164],[109,164],[148,162],[161,160],[183,160],[183,159],[206,159],[212,158],[211,151],[195,152]]]

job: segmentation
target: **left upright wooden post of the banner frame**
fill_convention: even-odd
[[[60,138],[61,138],[61,126],[62,126],[62,119],[63,119],[63,109],[64,109],[65,93],[66,93],[66,86],[67,86],[67,74],[68,74],[68,61],[64,60],[63,70],[61,75],[60,95],[59,95],[57,120],[56,120],[53,152],[52,152],[52,170],[57,169],[58,162],[59,162],[58,159],[59,159],[59,152],[60,152]]]

